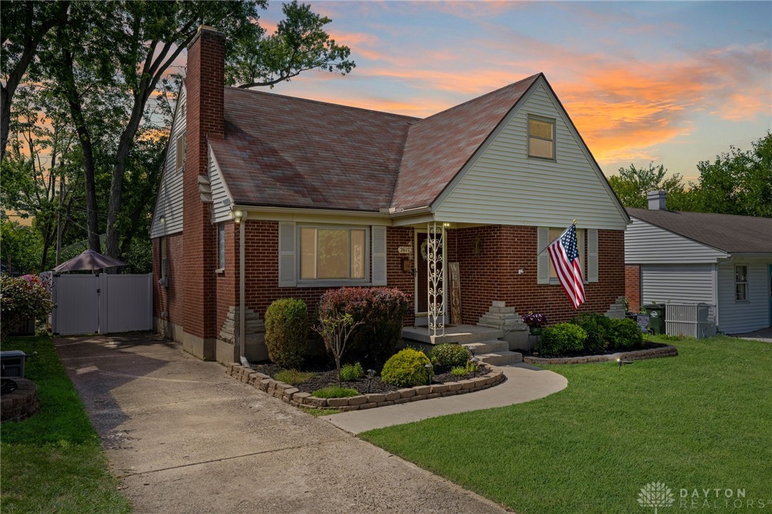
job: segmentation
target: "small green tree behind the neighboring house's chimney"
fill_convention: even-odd
[[[630,164],[628,168],[620,167],[619,174],[611,175],[608,183],[625,207],[646,208],[648,207],[646,193],[664,190],[668,194],[667,202],[670,210],[693,210],[693,197],[682,184],[681,175],[675,173],[666,178],[667,172],[663,164],[655,166],[650,162],[648,169]]]

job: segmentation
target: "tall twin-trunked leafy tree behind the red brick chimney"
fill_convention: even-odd
[[[270,86],[306,69],[337,70],[354,67],[350,50],[337,46],[323,31],[330,19],[321,18],[307,5],[285,5],[287,19],[273,36],[263,38],[256,23],[264,0],[242,2],[78,2],[69,22],[49,38],[45,75],[58,84],[66,98],[82,147],[89,213],[89,245],[99,250],[97,204],[97,130],[92,107],[113,99],[120,106],[117,145],[111,148],[110,188],[107,198],[107,255],[118,257],[119,215],[124,181],[137,133],[147,113],[148,101],[174,60],[194,38],[198,25],[214,25],[228,36],[226,62],[230,82],[243,86]],[[102,117],[99,117],[103,120]],[[128,238],[130,241],[130,238]]]

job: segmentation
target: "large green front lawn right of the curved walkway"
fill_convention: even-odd
[[[681,488],[772,505],[772,344],[674,344],[679,357],[621,370],[550,366],[568,387],[541,400],[361,437],[516,512],[643,512],[649,482],[671,487],[676,508]]]

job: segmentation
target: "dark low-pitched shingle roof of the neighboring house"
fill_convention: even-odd
[[[628,208],[633,218],[729,253],[772,254],[772,218]]]

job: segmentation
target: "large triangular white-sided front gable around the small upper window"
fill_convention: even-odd
[[[521,100],[490,144],[435,204],[436,219],[500,225],[624,230],[618,207],[589,151],[543,81]],[[555,161],[527,157],[528,115],[554,118]]]

